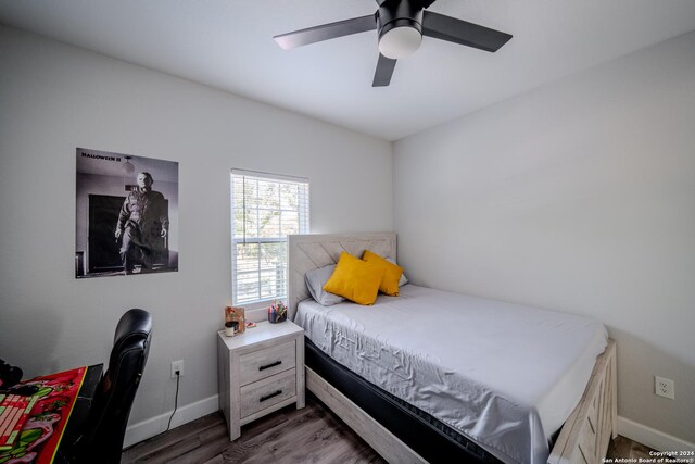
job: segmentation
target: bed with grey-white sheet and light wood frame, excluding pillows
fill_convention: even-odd
[[[307,272],[342,251],[395,259],[395,244],[394,234],[290,236],[309,391],[390,462],[601,462],[617,411],[615,343],[599,323],[413,285],[366,308],[311,299]],[[421,341],[432,334],[438,343]]]

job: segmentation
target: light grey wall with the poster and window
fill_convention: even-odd
[[[150,311],[130,424],[173,410],[172,361],[179,405],[217,394],[230,168],[308,177],[314,233],[392,230],[389,142],[4,27],[0,62],[0,358],[106,362],[121,314]],[[179,163],[178,273],[75,278],[76,147]]]

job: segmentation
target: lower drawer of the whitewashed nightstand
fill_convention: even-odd
[[[296,394],[296,373],[292,368],[241,387],[241,418],[270,407]]]

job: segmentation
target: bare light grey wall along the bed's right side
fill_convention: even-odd
[[[691,443],[694,51],[690,34],[394,145],[408,277],[603,321],[619,414]]]

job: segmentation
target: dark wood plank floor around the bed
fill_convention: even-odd
[[[607,457],[648,457],[649,448],[618,437]],[[123,463],[383,463],[338,416],[307,392],[306,407],[285,407],[241,427],[230,442],[215,413],[136,444]]]

